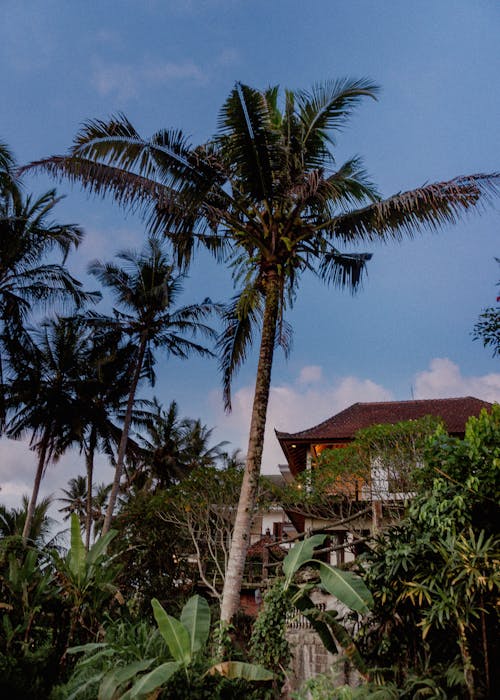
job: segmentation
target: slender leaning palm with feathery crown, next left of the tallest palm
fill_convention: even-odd
[[[148,239],[142,252],[124,251],[118,254],[118,259],[123,263],[122,267],[99,261],[89,267],[90,273],[111,290],[121,307],[113,310],[114,318],[99,319],[96,316],[95,323],[121,330],[136,348],[103,534],[109,531],[118,496],[139,380],[144,374],[151,382],[154,380],[154,349],[161,348],[167,355],[181,359],[187,359],[191,353],[213,356],[207,348],[187,336],[194,338],[201,334],[214,338],[213,329],[203,323],[203,319],[217,308],[210,299],[201,304],[175,308],[182,291],[183,276],[174,273],[165,251],[154,237]]]

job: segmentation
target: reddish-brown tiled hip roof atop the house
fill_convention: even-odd
[[[491,408],[488,401],[466,396],[456,399],[421,399],[419,401],[381,401],[355,403],[318,425],[298,433],[276,431],[278,440],[332,440],[350,439],[356,431],[377,423],[399,423],[424,416],[442,418],[450,433],[463,433],[470,416],[479,415],[481,409]]]

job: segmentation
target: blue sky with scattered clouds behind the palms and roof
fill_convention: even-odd
[[[339,138],[388,196],[424,182],[500,170],[500,5],[496,0],[19,0],[0,5],[0,140],[25,163],[70,145],[80,124],[123,111],[145,136],[181,127],[193,142],[214,133],[235,81],[308,88],[341,76],[382,87]],[[54,185],[38,176],[28,189]],[[78,187],[58,219],[87,232],[72,271],[140,247],[144,227]],[[269,426],[299,430],[354,401],[472,394],[500,400],[500,367],[471,330],[495,303],[500,201],[482,216],[400,245],[372,246],[356,296],[304,278],[289,321],[294,345],[278,352]],[[88,282],[91,285],[91,282]],[[184,301],[230,297],[229,274],[200,256]],[[255,372],[250,358],[225,417],[215,362],[158,358],[155,393],[201,417],[245,451]],[[264,471],[282,460],[269,433]],[[34,456],[0,442],[0,498],[27,492]],[[83,472],[77,454],[47,472],[44,489]],[[111,479],[103,465],[100,478]]]

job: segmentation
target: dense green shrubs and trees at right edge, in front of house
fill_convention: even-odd
[[[379,679],[428,679],[442,697],[498,685],[499,438],[498,406],[463,441],[438,431],[408,515],[365,555],[375,605],[360,643]]]

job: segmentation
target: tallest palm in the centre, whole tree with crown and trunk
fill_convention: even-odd
[[[226,406],[234,372],[260,327],[245,476],[224,588],[222,619],[239,605],[251,511],[262,459],[276,342],[301,273],[355,290],[370,255],[344,245],[399,241],[455,223],[498,192],[498,174],[458,177],[381,199],[359,158],[337,165],[336,134],[377,86],[342,79],[311,91],[264,92],[237,83],[219,130],[192,146],[178,130],[143,139],[124,117],[86,123],[66,156],[32,163],[139,209],[189,262],[196,243],[231,265],[241,292],[227,312],[220,348]]]

